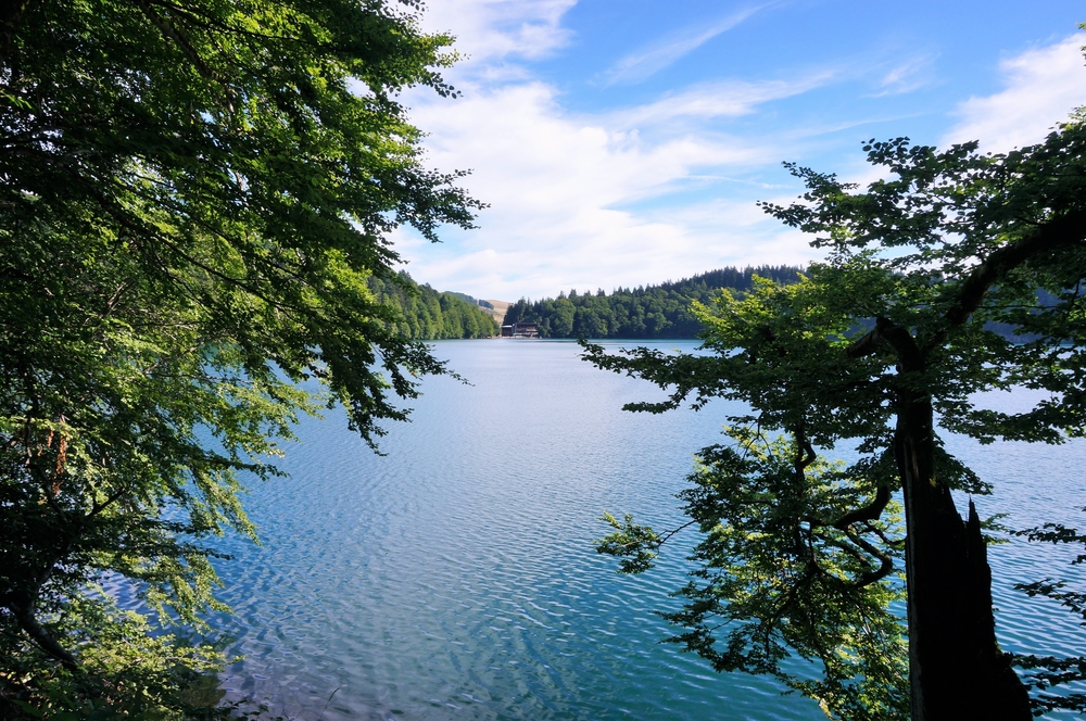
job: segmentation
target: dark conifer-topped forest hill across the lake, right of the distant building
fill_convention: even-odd
[[[505,324],[534,322],[543,338],[696,338],[702,324],[690,313],[692,301],[707,303],[721,288],[750,290],[754,275],[795,282],[801,270],[790,265],[727,267],[659,286],[619,288],[610,294],[571,290],[556,299],[521,299],[509,306]]]

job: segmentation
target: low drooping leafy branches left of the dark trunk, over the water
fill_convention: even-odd
[[[675,594],[684,608],[662,614],[687,630],[667,641],[717,671],[770,673],[833,718],[906,718],[906,641],[889,609],[905,596],[893,574],[904,547],[893,539],[904,530],[899,509],[847,520],[892,469],[868,460],[845,468],[752,428],[729,435],[734,446],[699,452],[680,494],[704,536],[691,556],[694,580]],[[633,556],[626,572],[647,570],[664,539],[629,516],[624,524],[607,520],[616,532],[597,551]],[[790,672],[782,662],[792,654],[817,660],[823,678]]]

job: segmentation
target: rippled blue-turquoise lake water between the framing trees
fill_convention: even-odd
[[[213,624],[245,656],[223,676],[229,698],[327,720],[824,718],[772,680],[719,675],[658,643],[669,631],[654,611],[675,608],[693,536],[632,578],[592,547],[604,510],[681,522],[673,494],[735,406],[624,413],[659,392],[595,370],[573,343],[434,347],[473,385],[428,379],[386,456],[330,412],[287,447],[291,478],[253,484],[263,545],[220,544],[235,556],[218,565],[235,616]],[[1086,444],[948,447],[996,485],[982,516],[1082,520]],[[1086,652],[1073,618],[1010,590],[1073,554],[1015,541],[990,557],[1005,648]]]

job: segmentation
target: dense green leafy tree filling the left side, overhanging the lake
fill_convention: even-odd
[[[300,414],[342,403],[372,444],[445,372],[367,286],[400,282],[392,228],[480,206],[395,101],[453,94],[418,8],[0,5],[3,698],[85,668],[102,574],[163,619],[214,605],[201,540],[253,534],[239,473],[276,475]]]

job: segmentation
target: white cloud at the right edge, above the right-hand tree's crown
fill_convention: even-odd
[[[1006,89],[961,103],[958,124],[943,142],[980,140],[986,151],[1038,142],[1075,107],[1086,104],[1083,36],[1030,50],[1000,63]]]

